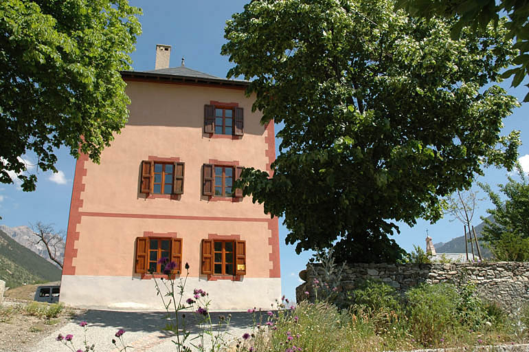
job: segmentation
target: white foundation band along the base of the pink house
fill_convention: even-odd
[[[156,280],[165,290],[164,283],[169,282],[159,278]],[[178,284],[177,279],[177,299]],[[188,277],[182,303],[192,298],[193,289],[203,289],[209,294],[212,311],[246,311],[254,307],[270,309],[275,300],[281,298],[281,278],[207,281],[206,278]],[[60,302],[73,307],[93,309],[164,310],[161,298],[157,296],[155,281],[131,276],[63,275]]]

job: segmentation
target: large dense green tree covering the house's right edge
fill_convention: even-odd
[[[483,88],[510,64],[508,31],[454,40],[452,25],[390,0],[251,1],[227,22],[228,76],[253,78],[262,123],[284,123],[273,176],[248,168],[238,186],[284,216],[298,253],[396,261],[396,221],[436,221],[484,165],[513,167],[519,132],[499,131],[517,100]]]

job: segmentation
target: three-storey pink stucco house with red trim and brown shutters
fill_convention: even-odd
[[[278,219],[232,187],[245,166],[270,172],[273,122],[262,126],[248,82],[169,68],[122,72],[130,118],[101,163],[81,155],[71,196],[60,300],[78,307],[161,309],[153,277],[177,262],[212,309],[280,298]],[[150,274],[153,272],[153,274]]]

